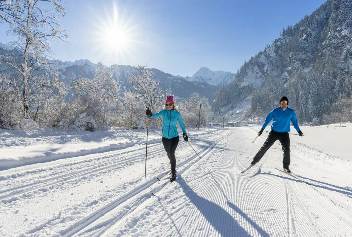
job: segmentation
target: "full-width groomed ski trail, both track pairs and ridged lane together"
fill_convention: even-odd
[[[252,144],[256,133],[237,127],[200,134],[190,143],[201,159],[180,139],[171,184],[161,143],[148,147],[146,180],[143,148],[14,169],[0,190],[0,235],[350,236],[350,173],[307,159],[291,139],[290,169],[312,185],[275,169],[282,169],[278,142],[242,174],[266,139]],[[21,225],[26,231],[16,231]]]

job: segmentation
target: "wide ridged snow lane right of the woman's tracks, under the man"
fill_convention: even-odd
[[[307,185],[278,171],[276,167],[282,168],[278,143],[253,175],[241,174],[240,167],[252,158],[247,155],[266,138],[252,145],[250,136],[254,131],[235,129],[218,144],[222,152],[202,158],[104,236],[349,236],[352,190],[328,182]],[[329,165],[297,157],[294,151],[291,167],[295,174],[302,170],[300,176],[307,180],[314,175],[321,178],[321,172],[348,177],[343,167],[333,171]]]

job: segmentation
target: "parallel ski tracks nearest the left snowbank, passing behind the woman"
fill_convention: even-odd
[[[223,131],[225,131],[225,130],[216,130],[215,132],[213,132],[213,135],[220,134]],[[209,133],[205,134],[205,136],[209,136]],[[184,144],[187,144],[187,143],[183,141],[183,142],[180,143],[180,146],[184,145]],[[141,148],[138,148],[138,149],[135,149],[135,150],[133,150],[131,152],[138,151],[140,149]],[[145,149],[145,148],[143,147],[142,149]],[[162,147],[160,149],[157,149],[157,150],[154,150],[154,151],[150,151],[148,155],[155,155],[155,154],[161,153],[163,151],[164,151],[164,148]],[[130,157],[130,158],[127,158],[127,159],[122,159],[122,160],[119,160],[119,161],[111,162],[109,164],[104,165],[103,167],[99,167],[99,168],[95,168],[95,169],[92,169],[92,167],[89,167],[87,169],[80,170],[80,171],[77,171],[77,172],[67,173],[67,174],[64,174],[64,175],[59,175],[59,176],[56,176],[56,177],[51,177],[51,178],[46,178],[44,180],[39,180],[37,182],[28,183],[28,184],[12,187],[12,188],[9,188],[9,189],[1,190],[0,193],[6,193],[6,192],[10,192],[10,191],[13,191],[13,192],[11,192],[11,193],[9,193],[7,195],[0,196],[0,199],[13,197],[13,196],[25,193],[25,192],[37,190],[37,189],[42,188],[42,187],[54,185],[54,184],[57,184],[57,183],[61,183],[63,181],[68,181],[68,180],[71,180],[71,179],[79,178],[81,176],[90,175],[92,173],[96,173],[96,172],[99,172],[99,171],[102,171],[102,170],[110,169],[110,168],[118,166],[118,165],[134,162],[136,160],[139,160],[140,157],[141,157],[141,155],[138,154],[136,156],[133,156],[133,157]],[[46,183],[46,182],[48,182],[48,183]],[[26,189],[25,190],[20,190],[20,189],[23,189],[23,188],[26,188]],[[18,191],[16,191],[16,190],[18,190]]]

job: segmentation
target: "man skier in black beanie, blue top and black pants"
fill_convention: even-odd
[[[290,173],[290,136],[288,134],[290,132],[290,122],[292,122],[300,137],[303,136],[303,132],[301,132],[300,127],[298,127],[296,112],[287,107],[287,97],[281,97],[279,104],[280,107],[275,108],[266,116],[262,129],[258,132],[258,136],[262,135],[266,125],[269,124],[271,119],[274,119],[271,124],[269,136],[266,138],[263,146],[260,147],[258,153],[254,156],[251,166],[259,162],[272,144],[274,144],[276,140],[279,140],[282,146],[282,151],[284,152],[284,157],[282,160],[283,169],[284,171]]]

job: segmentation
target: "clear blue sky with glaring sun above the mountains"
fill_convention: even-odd
[[[65,0],[61,25],[69,44],[53,42],[54,57],[108,66],[143,64],[182,76],[192,76],[203,66],[235,73],[278,38],[282,28],[324,2]],[[124,28],[123,42],[109,33],[113,22]],[[6,27],[0,25],[2,43],[11,40]]]

